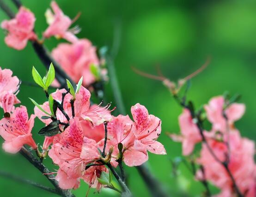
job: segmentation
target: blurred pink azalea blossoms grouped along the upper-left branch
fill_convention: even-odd
[[[21,6],[15,18],[4,20],[1,28],[7,31],[5,42],[7,46],[22,50],[28,41],[43,43],[45,39],[55,36],[57,39],[65,39],[68,42],[60,43],[52,50],[52,56],[61,68],[78,83],[81,75],[84,76],[83,85],[89,87],[94,82],[106,80],[107,71],[103,68],[96,54],[96,48],[88,39],[79,39],[76,34],[80,29],[75,26],[70,28],[79,15],[73,20],[66,16],[55,1],[51,2],[51,8],[45,12],[49,27],[43,32],[43,39],[38,40],[35,33],[36,18],[33,12]],[[55,81],[53,84],[60,87]]]

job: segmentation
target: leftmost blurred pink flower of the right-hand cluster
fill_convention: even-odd
[[[170,134],[170,137],[177,142],[182,142],[183,155],[190,155],[196,143],[201,142],[200,132],[193,122],[188,109],[184,109],[179,116],[181,135]]]

